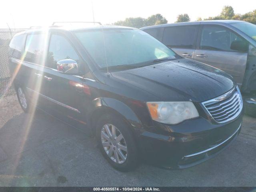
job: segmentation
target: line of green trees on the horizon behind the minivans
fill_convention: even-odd
[[[235,14],[232,6],[224,6],[222,8],[222,12],[218,16],[208,17],[204,19],[200,17],[197,18],[197,21],[202,21],[202,20],[242,20],[242,21],[256,24],[256,9],[246,14]],[[177,16],[177,20],[176,20],[177,23],[188,22],[188,21],[190,21],[190,17],[186,13],[180,14]],[[148,18],[142,18],[142,17],[126,18],[125,20],[120,20],[115,22],[114,25],[141,28],[141,27],[151,26],[151,25],[166,24],[167,22],[168,21],[166,20],[166,18],[164,18],[161,14],[155,14]]]

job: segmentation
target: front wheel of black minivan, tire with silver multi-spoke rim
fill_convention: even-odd
[[[107,127],[110,131],[110,136]],[[116,139],[111,136],[113,135],[113,128],[116,130]],[[109,136],[108,140],[106,139],[106,136]],[[123,139],[120,140],[122,136]],[[122,120],[122,118],[117,118],[114,114],[103,115],[96,124],[96,139],[102,155],[115,169],[121,172],[128,172],[134,170],[138,166],[138,148],[134,137],[132,136],[130,127],[124,120]],[[104,146],[103,143],[105,144]],[[124,146],[126,146],[127,151],[125,151]],[[112,150],[110,148],[112,148]],[[122,152],[121,155],[120,152]],[[116,156],[118,162],[116,161]],[[124,160],[124,158],[126,159]]]

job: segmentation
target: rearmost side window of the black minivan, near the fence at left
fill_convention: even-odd
[[[13,57],[16,59],[21,58],[22,48],[24,46],[24,38],[25,38],[24,34],[14,36],[14,38],[12,38],[9,44],[9,57]]]

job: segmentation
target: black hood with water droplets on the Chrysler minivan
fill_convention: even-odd
[[[235,86],[225,72],[184,58],[111,74],[154,95],[154,101],[203,102]]]

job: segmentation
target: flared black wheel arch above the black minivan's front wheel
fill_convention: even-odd
[[[96,98],[93,100],[93,109],[90,111],[88,122],[92,123],[94,116],[100,111],[113,111],[121,116],[134,128],[142,129],[142,123],[133,110],[120,100],[114,98]],[[93,124],[93,123],[92,123]],[[91,125],[92,125],[91,124]]]

